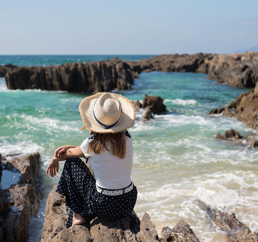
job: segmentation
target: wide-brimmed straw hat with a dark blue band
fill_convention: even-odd
[[[133,103],[116,93],[101,92],[85,97],[79,112],[86,128],[97,133],[117,133],[134,125]]]

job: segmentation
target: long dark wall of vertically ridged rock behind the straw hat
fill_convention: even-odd
[[[5,75],[8,89],[65,90],[70,92],[107,92],[114,88],[130,90],[131,69],[118,59],[60,66],[19,66]]]

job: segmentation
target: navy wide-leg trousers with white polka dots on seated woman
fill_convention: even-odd
[[[109,221],[127,217],[132,213],[137,199],[136,186],[116,196],[98,192],[95,178],[79,157],[66,159],[56,192],[66,197],[66,205],[70,208],[66,228],[72,226],[73,212],[81,214],[87,225],[95,217]]]

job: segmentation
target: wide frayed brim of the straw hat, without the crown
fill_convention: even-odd
[[[126,97],[112,93],[117,96],[121,103],[122,113],[118,123],[110,129],[105,129],[100,125],[93,116],[93,106],[96,100],[105,92],[96,93],[85,97],[80,105],[79,112],[86,129],[97,133],[117,133],[129,129],[134,125],[135,109],[133,103]]]

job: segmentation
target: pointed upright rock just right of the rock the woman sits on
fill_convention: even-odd
[[[150,216],[144,213],[141,223],[140,231],[136,234],[138,242],[158,242],[158,232],[154,224],[150,220]]]

